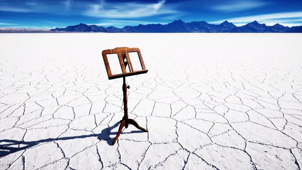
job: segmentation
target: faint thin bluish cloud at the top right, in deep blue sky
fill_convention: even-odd
[[[221,4],[211,7],[212,10],[221,11],[221,12],[236,12],[244,11],[248,9],[254,9],[267,5],[268,3],[260,1],[233,1],[228,2],[227,4]]]

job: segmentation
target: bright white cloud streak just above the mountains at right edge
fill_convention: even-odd
[[[252,16],[244,16],[244,17],[236,17],[236,18],[226,18],[223,20],[217,20],[214,22],[210,22],[211,24],[220,24],[224,20],[228,20],[237,26],[242,26],[247,23],[253,22],[257,20],[260,23],[265,23],[267,25],[274,24],[282,24],[284,26],[297,26],[302,25],[302,11],[298,12],[282,12],[282,13],[271,13],[271,14],[263,14],[263,15],[252,15]]]

